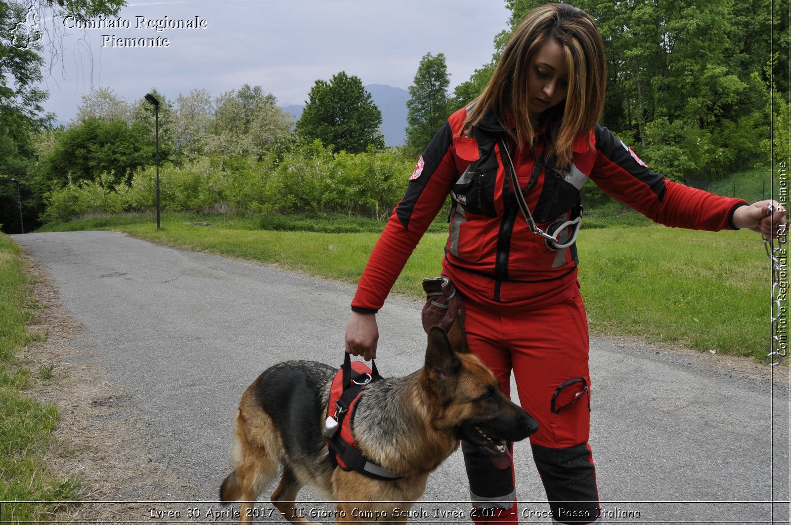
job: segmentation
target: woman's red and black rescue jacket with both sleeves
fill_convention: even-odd
[[[451,115],[420,157],[365,266],[353,310],[381,308],[448,194],[453,208],[443,274],[464,296],[541,308],[576,294],[576,245],[553,250],[530,231],[509,183],[511,166],[544,231],[570,217],[589,179],[653,221],[680,228],[733,229],[734,210],[747,205],[665,179],[601,126],[574,142],[569,166],[555,166],[543,159],[545,137],[517,146],[492,115],[465,130],[466,116],[466,109]]]

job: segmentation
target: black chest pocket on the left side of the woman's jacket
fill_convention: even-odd
[[[478,159],[461,174],[452,187],[451,195],[465,212],[497,217],[494,188],[500,164],[494,152],[495,141],[479,133],[477,127],[473,128],[473,135],[478,142]]]

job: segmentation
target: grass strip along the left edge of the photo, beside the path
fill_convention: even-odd
[[[58,422],[55,406],[28,397],[32,372],[18,354],[36,339],[28,331],[35,314],[31,283],[21,251],[0,235],[0,522],[44,521],[74,493],[70,481],[56,478],[44,457]],[[25,503],[41,501],[44,503]],[[51,502],[51,503],[47,503]]]

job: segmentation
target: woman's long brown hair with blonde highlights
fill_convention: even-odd
[[[531,9],[505,46],[486,89],[467,112],[465,125],[475,126],[491,111],[518,144],[532,142],[536,130],[531,123],[534,115],[529,101],[536,93],[528,93],[528,64],[550,39],[561,45],[569,72],[566,100],[548,110],[560,118],[546,123],[551,134],[547,157],[563,166],[571,161],[574,141],[588,136],[596,126],[604,108],[607,85],[604,42],[596,23],[582,9],[568,4],[546,4]],[[516,121],[515,133],[506,125],[509,114]]]

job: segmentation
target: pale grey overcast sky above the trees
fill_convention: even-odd
[[[157,32],[138,17],[205,27]],[[98,87],[132,102],[152,88],[175,100],[192,89],[218,96],[244,84],[261,85],[280,104],[303,104],[316,79],[342,70],[364,85],[407,89],[427,52],[445,54],[452,88],[490,61],[508,17],[502,0],[132,0],[118,17],[129,28],[59,21],[62,43],[47,41],[44,51],[61,53],[45,73],[44,108],[68,122],[81,96]],[[157,37],[168,46],[119,47],[121,39]]]

